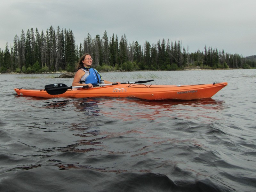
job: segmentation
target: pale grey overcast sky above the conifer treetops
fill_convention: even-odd
[[[79,45],[107,31],[128,43],[180,40],[189,52],[204,46],[244,57],[256,55],[255,0],[1,0],[0,48],[50,26],[70,29]]]

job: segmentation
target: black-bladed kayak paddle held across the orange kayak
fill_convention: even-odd
[[[154,79],[151,80],[147,80],[147,81],[135,81],[135,82],[124,82],[124,83],[120,83],[120,84],[135,84],[135,83],[148,83],[150,81],[154,81]],[[101,87],[101,86],[108,86],[108,85],[117,85],[117,83],[109,83],[109,84],[97,84],[97,85],[93,85],[93,87]],[[84,85],[84,86],[67,86],[63,83],[56,83],[56,84],[50,84],[50,85],[45,85],[44,89],[47,93],[49,93],[50,95],[60,95],[62,93],[65,93],[68,89],[73,89],[73,88],[88,88],[88,85]]]

